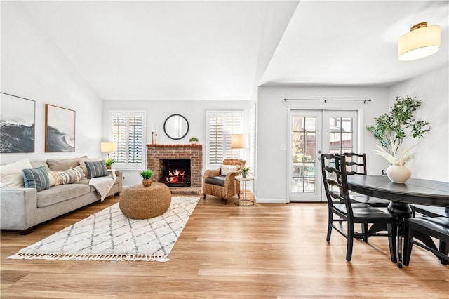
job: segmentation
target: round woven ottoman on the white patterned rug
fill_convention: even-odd
[[[121,213],[132,219],[153,218],[166,213],[171,193],[165,184],[153,182],[151,186],[134,185],[120,194]]]

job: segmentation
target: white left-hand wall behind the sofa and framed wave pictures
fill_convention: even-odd
[[[35,152],[0,154],[1,164],[24,157],[37,160],[100,154],[102,101],[16,1],[1,3],[0,87],[4,93],[36,101]],[[45,104],[76,111],[75,152],[44,152]]]

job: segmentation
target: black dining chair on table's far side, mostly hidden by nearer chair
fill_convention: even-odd
[[[346,157],[344,165],[346,166],[347,175],[366,175],[366,154],[356,154],[355,152],[345,152],[340,156]],[[340,169],[340,164],[337,164],[337,169]],[[351,194],[351,200],[362,204],[369,204],[376,208],[387,208],[390,204],[388,199],[380,199],[377,197],[370,197],[365,194],[354,193]]]

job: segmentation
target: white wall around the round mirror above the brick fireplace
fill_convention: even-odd
[[[175,87],[173,87],[175,88]],[[196,136],[199,143],[203,145],[203,170],[217,168],[217,166],[206,165],[206,111],[208,110],[243,110],[243,133],[250,133],[250,109],[253,104],[248,101],[200,101],[200,100],[103,100],[103,140],[110,140],[109,132],[109,112],[122,111],[145,111],[146,116],[146,144],[152,142],[152,125],[159,127],[158,144],[189,144],[189,138]],[[163,132],[163,122],[171,114],[181,114],[189,121],[189,132],[185,138],[173,140]],[[145,149],[146,150],[146,149]],[[246,165],[250,164],[250,149],[241,150],[241,159],[246,160]],[[114,166],[114,168],[119,168]],[[147,164],[142,169],[147,168]],[[136,185],[142,182],[139,171],[124,171],[125,180],[123,185]]]

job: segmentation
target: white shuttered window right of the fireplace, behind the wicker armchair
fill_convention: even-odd
[[[207,112],[208,164],[222,164],[225,158],[239,158],[231,148],[231,135],[243,131],[243,111]]]

